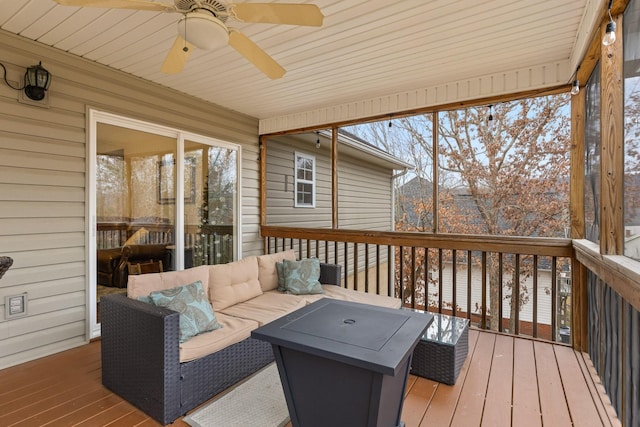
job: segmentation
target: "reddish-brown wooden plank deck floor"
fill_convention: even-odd
[[[585,354],[477,330],[456,385],[410,377],[402,419],[406,427],[621,425]],[[44,425],[158,423],[101,385],[97,341],[0,371],[0,426]]]

